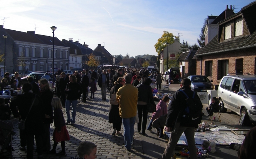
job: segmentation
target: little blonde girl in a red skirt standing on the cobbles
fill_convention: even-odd
[[[60,98],[53,98],[51,104],[54,107],[53,121],[55,129],[53,131],[53,149],[50,151],[50,153],[56,154],[57,156],[66,155],[65,141],[69,141],[70,138],[66,128],[65,119],[61,110],[62,106]],[[50,118],[50,116],[46,114],[45,117]],[[58,142],[61,143],[61,151],[59,153],[56,153],[56,147],[58,145]]]

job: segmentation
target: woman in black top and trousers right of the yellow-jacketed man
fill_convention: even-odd
[[[137,109],[138,109],[138,116],[139,116],[139,123],[137,123],[138,132],[141,130],[141,134],[145,135],[146,127],[147,127],[147,118],[148,118],[148,103],[153,103],[153,93],[150,83],[152,80],[150,78],[144,79],[142,84],[137,85],[139,94],[138,94],[138,101],[137,101]],[[141,118],[143,117],[142,121],[142,129],[141,129]]]

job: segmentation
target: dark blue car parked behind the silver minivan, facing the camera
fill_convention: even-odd
[[[207,92],[213,89],[213,80],[209,80],[206,76],[191,75],[187,78],[191,81],[191,90],[195,92]]]

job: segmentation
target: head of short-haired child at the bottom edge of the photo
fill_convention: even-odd
[[[70,157],[69,159],[95,159],[97,153],[97,147],[94,143],[83,141],[78,146],[78,156]]]

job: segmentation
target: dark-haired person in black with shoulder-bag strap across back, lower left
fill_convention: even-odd
[[[26,120],[25,130],[20,130],[20,142],[21,146],[25,149],[27,145],[27,158],[33,159],[33,147],[34,137],[36,141],[36,149],[38,158],[42,158],[43,154],[43,143],[42,134],[43,119],[45,118],[44,107],[41,98],[32,93],[32,86],[29,83],[25,83],[22,87],[23,94],[19,94],[17,98],[11,101],[11,110],[15,118],[21,117],[22,120]],[[35,101],[34,101],[35,99]],[[34,101],[33,106],[31,107]],[[17,110],[17,107],[19,112]],[[29,112],[29,108],[31,110]]]

